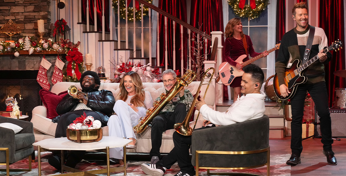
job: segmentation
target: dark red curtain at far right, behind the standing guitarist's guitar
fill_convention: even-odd
[[[345,38],[344,24],[344,1],[343,0],[320,0],[320,20],[319,26],[324,29],[328,45],[337,39],[342,42]],[[343,43],[344,44],[344,43]],[[332,59],[325,65],[326,83],[329,95],[329,107],[333,106],[335,100],[335,88],[345,88],[345,79],[333,74],[336,70],[345,69],[345,50],[338,52],[331,51]]]

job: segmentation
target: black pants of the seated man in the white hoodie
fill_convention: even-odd
[[[212,125],[211,127],[214,127],[215,125]],[[208,128],[210,126],[201,127],[199,129],[195,130],[201,130]],[[171,152],[163,157],[160,161],[157,161],[156,164],[161,165],[167,169],[170,169],[171,166],[178,162],[178,166],[180,168],[180,171],[182,173],[187,173],[189,175],[195,175],[195,169],[192,166],[191,159],[190,159],[190,153],[189,149],[191,146],[191,136],[184,136],[182,134],[179,134],[178,132],[173,133],[173,142],[174,142],[174,148],[171,150]]]

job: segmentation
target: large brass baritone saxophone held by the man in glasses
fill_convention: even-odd
[[[184,87],[189,86],[189,84],[196,78],[196,72],[192,70],[186,71],[182,77],[176,77],[176,82],[172,88],[165,94],[160,95],[160,100],[153,103],[154,108],[148,109],[146,116],[139,119],[139,123],[133,127],[135,133],[142,133],[146,127],[153,121],[153,118],[170,102],[174,96],[179,93]]]

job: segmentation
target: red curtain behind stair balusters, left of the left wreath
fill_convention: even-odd
[[[96,16],[97,16],[97,30],[102,29],[102,1],[104,1],[104,25],[105,31],[109,32],[109,1],[110,0],[96,0]],[[89,17],[90,24],[94,25],[94,0],[89,0]],[[86,0],[82,0],[82,23],[86,23]],[[90,29],[94,31],[94,28]]]

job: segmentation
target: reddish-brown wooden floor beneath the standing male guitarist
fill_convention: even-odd
[[[270,153],[273,155],[291,154],[291,139],[270,139]],[[322,153],[321,139],[307,139],[302,141],[303,152],[301,164],[291,167],[294,176],[345,176],[346,175],[346,139],[334,141],[333,151],[338,161],[336,166],[327,164],[327,159]],[[289,158],[287,158],[289,159]]]

